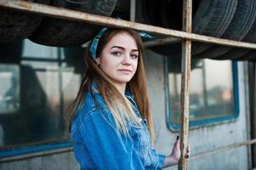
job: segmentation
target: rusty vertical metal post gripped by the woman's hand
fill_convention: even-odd
[[[183,31],[191,32],[191,6],[192,0],[183,0]],[[180,116],[180,147],[181,157],[179,170],[187,169],[187,159],[185,152],[188,145],[189,134],[189,107],[191,88],[191,40],[182,40],[182,62],[181,62],[181,116]]]

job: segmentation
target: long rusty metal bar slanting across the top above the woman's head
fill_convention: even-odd
[[[117,20],[110,17],[104,17],[95,14],[87,14],[79,11],[74,11],[65,8],[56,8],[53,6],[43,5],[39,3],[31,3],[28,1],[15,1],[15,0],[1,0],[0,7],[12,8],[20,11],[26,11],[28,13],[43,14],[54,18],[60,18],[65,20],[77,20],[100,26],[113,26],[122,28],[132,28],[138,31],[151,32],[153,34],[161,34],[164,36],[180,37],[189,39],[196,42],[208,42],[219,45],[240,47],[240,48],[253,48],[256,49],[255,43],[249,42],[237,42],[217,37],[208,37],[197,35],[185,31],[175,31],[158,26],[150,26],[145,24],[139,24],[127,20]]]

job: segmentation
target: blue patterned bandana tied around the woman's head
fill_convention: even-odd
[[[96,59],[96,51],[97,51],[97,46],[98,46],[100,37],[102,37],[102,35],[105,33],[107,29],[108,29],[107,27],[104,27],[102,30],[100,30],[100,32],[97,34],[97,36],[94,37],[93,42],[91,43],[90,54],[94,60]],[[155,39],[155,37],[145,32],[139,32],[139,37],[145,38],[146,40]]]

